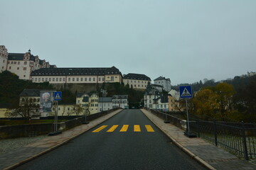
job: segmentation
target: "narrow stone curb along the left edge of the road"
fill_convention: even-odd
[[[121,111],[123,111],[123,109],[120,110],[120,111],[118,111],[117,113],[120,113]],[[115,113],[114,115],[117,115],[117,113]],[[112,118],[114,115],[110,116],[110,118]],[[73,137],[70,137],[68,140],[65,140],[64,142],[61,142],[61,143],[58,144],[58,145],[55,145],[55,146],[53,146],[53,147],[50,147],[50,148],[44,150],[43,152],[40,152],[40,153],[35,154],[35,155],[33,155],[33,156],[31,156],[31,157],[29,157],[29,158],[27,158],[27,159],[24,159],[24,160],[22,160],[21,162],[18,162],[18,163],[16,163],[16,164],[13,164],[13,165],[11,165],[11,166],[8,166],[8,167],[4,168],[3,170],[15,169],[15,168],[17,168],[18,166],[21,166],[22,164],[25,164],[25,163],[27,163],[27,162],[30,162],[31,160],[36,159],[36,158],[42,156],[43,154],[46,154],[46,153],[52,151],[53,149],[56,149],[56,148],[58,148],[58,147],[60,147],[60,146],[62,146],[62,145],[65,145],[66,143],[70,142],[70,140],[75,139],[75,137],[78,137],[78,136],[82,135],[83,133],[87,132],[88,130],[91,130],[92,128],[95,128],[95,126],[100,125],[100,123],[103,123],[103,122],[105,122],[106,120],[108,120],[108,119],[110,119],[110,118],[107,118],[107,119],[105,119],[105,120],[102,120],[102,121],[100,121],[99,123],[97,123],[96,125],[93,125],[92,127],[88,128],[87,130],[85,130],[85,131],[83,131],[83,132],[80,132],[80,133],[78,133],[77,135],[75,135],[75,136],[73,136]],[[96,120],[97,120],[97,119],[96,119]]]

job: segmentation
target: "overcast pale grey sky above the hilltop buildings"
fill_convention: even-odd
[[[0,0],[0,45],[171,84],[256,69],[255,0]]]

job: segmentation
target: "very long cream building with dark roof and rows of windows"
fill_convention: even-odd
[[[43,68],[31,72],[31,80],[36,83],[48,81],[50,84],[121,83],[122,73],[116,67]]]

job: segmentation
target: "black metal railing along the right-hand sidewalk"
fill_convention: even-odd
[[[151,111],[154,115],[165,120],[166,113],[160,111]],[[256,159],[256,124],[255,123],[230,123],[220,121],[206,121],[196,118],[195,115],[189,115],[189,125],[191,132],[197,137],[222,147],[230,153],[243,157],[245,159]],[[181,119],[167,115],[171,124],[181,128]]]

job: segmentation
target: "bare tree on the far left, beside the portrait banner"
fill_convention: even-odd
[[[31,120],[31,118],[40,116],[38,110],[39,106],[35,101],[33,101],[33,98],[23,97],[19,106],[14,108],[12,111],[6,112],[5,115],[9,118],[21,116],[25,120]]]

